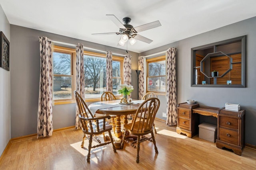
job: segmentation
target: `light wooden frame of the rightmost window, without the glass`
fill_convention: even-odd
[[[151,59],[146,59],[146,68],[147,68],[147,72],[146,72],[146,93],[154,92],[157,95],[163,95],[164,96],[166,94],[166,88],[165,88],[164,92],[148,90],[148,78],[150,78],[150,77],[159,77],[159,76],[148,76],[148,74],[149,74],[148,64],[149,63],[156,63],[158,61],[166,61],[166,55],[162,55],[162,56],[159,56],[159,57],[154,57],[154,58],[151,58]],[[165,77],[165,80],[166,80],[166,68],[165,68],[165,75],[163,75],[161,77]],[[159,82],[159,83],[161,83],[161,82]],[[166,87],[166,81],[165,81],[165,87]]]

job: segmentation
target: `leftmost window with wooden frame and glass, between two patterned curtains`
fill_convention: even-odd
[[[55,102],[74,100],[75,49],[54,47],[53,52],[53,98]]]

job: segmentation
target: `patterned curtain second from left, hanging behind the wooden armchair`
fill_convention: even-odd
[[[84,99],[84,45],[76,46],[76,91]],[[81,127],[79,121],[79,111],[76,104],[76,129]]]

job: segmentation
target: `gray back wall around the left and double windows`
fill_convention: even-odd
[[[10,26],[12,41],[11,50],[11,137],[20,137],[37,133],[38,91],[40,76],[39,36],[46,36],[52,40],[77,44],[112,51],[112,53],[126,54],[125,50],[108,47],[88,41],[64,37],[48,32]],[[137,98],[138,53],[132,55],[132,98]],[[75,104],[56,105],[53,107],[53,128],[59,129],[75,125]],[[22,120],[22,121],[21,121]]]

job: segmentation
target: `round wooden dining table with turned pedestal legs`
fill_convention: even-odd
[[[112,101],[104,101],[104,102],[96,102],[93,104],[90,104],[89,107],[97,107],[102,106],[106,104],[115,104],[119,103],[120,100],[112,100]],[[98,114],[104,114],[104,115],[116,115],[116,131],[115,136],[119,139],[122,139],[122,130],[121,130],[121,119],[120,116],[124,116],[124,124],[128,123],[127,115],[135,114],[140,104],[135,104],[136,101],[134,101],[134,104],[122,104],[121,106],[114,106],[109,108],[100,108],[96,110],[95,113]],[[142,103],[142,102],[140,102]],[[121,140],[120,140],[121,141]],[[119,149],[120,141],[115,142],[115,146],[117,149]]]

